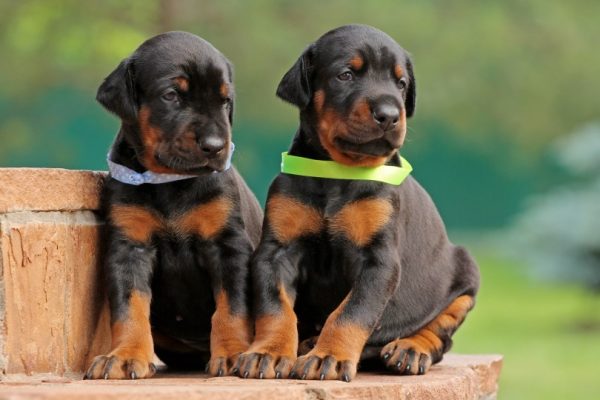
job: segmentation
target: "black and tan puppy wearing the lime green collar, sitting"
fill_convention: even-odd
[[[415,77],[383,32],[350,25],[326,33],[277,95],[300,109],[289,154],[400,164]],[[448,241],[411,177],[395,186],[279,174],[251,275],[255,339],[234,372],[259,378],[349,381],[361,356],[423,374],[449,349],[479,286],[475,262]],[[298,340],[308,353],[296,359]]]

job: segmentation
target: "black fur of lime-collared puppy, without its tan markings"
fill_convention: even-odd
[[[361,68],[349,66],[356,55],[364,64]],[[394,75],[396,66],[401,67],[404,83]],[[350,72],[352,79],[346,80],[345,72]],[[300,109],[300,127],[290,154],[336,158],[319,133],[324,110],[328,110],[347,124],[345,135],[336,134],[333,142],[344,163],[360,164],[382,157],[385,164],[399,165],[401,129],[383,131],[366,112],[360,123],[349,122],[353,107],[361,102],[368,104],[371,112],[384,104],[400,114],[404,110],[406,117],[414,113],[416,80],[412,62],[385,33],[362,25],[328,32],[310,45],[285,74],[277,95]],[[326,225],[343,207],[360,199],[385,200],[393,212],[390,222],[365,246],[348,240],[331,226],[284,244],[269,218],[269,201],[276,195],[317,210]],[[294,302],[300,341],[319,335],[330,313],[351,292],[339,320],[370,332],[365,357],[373,353],[367,351],[373,346],[381,348],[414,334],[458,296],[474,297],[479,286],[475,262],[465,249],[449,242],[431,198],[410,176],[394,186],[279,174],[269,189],[263,235],[251,265],[257,320],[281,312],[278,288],[283,286]],[[443,351],[447,350],[451,333],[441,338]],[[278,357],[276,351],[267,355]],[[245,354],[241,360],[240,375],[263,372],[253,369],[251,356]],[[441,354],[433,358],[437,362]],[[280,366],[275,363],[275,368]],[[339,379],[351,379],[351,374]]]

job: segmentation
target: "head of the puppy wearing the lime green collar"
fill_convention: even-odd
[[[416,82],[408,54],[392,38],[369,26],[347,25],[311,44],[277,95],[300,108],[333,160],[376,166],[404,142]]]

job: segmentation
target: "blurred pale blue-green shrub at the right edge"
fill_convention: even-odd
[[[511,248],[542,278],[600,291],[600,125],[562,138],[554,149],[573,182],[530,201],[510,231]]]

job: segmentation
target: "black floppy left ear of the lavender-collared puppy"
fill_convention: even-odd
[[[126,58],[108,75],[98,88],[96,100],[123,121],[137,118],[138,104],[133,82],[133,62]]]

